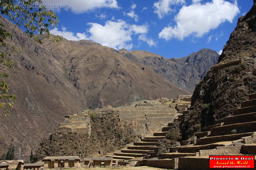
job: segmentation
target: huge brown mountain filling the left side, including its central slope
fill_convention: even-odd
[[[29,156],[31,148],[35,150],[64,115],[86,108],[190,94],[115,49],[86,40],[64,39],[57,44],[43,40],[39,45],[0,19],[14,36],[9,43],[22,49],[22,54],[9,55],[15,65],[7,83],[18,98],[10,117],[0,114],[0,154],[13,138],[22,157]]]

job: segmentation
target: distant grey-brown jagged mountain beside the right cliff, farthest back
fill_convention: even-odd
[[[121,49],[119,53],[133,62],[150,67],[161,77],[190,92],[194,91],[196,83],[217,63],[219,57],[211,49],[201,49],[186,57],[170,59],[140,50],[128,52]]]

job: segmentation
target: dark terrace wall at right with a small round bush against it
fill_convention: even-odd
[[[232,130],[235,130],[235,133]],[[215,127],[211,129],[210,136],[241,134],[254,131],[256,131],[256,121]]]

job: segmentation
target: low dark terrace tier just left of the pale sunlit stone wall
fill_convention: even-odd
[[[225,146],[225,145],[228,145],[229,143],[231,143],[231,141],[211,143],[208,145],[188,145],[188,146],[172,147],[170,149],[170,152],[176,152],[177,150],[180,153],[195,153],[195,152],[199,152],[199,150],[215,149],[217,146]]]

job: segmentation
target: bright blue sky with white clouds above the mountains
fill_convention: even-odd
[[[166,58],[219,52],[253,0],[43,0],[60,19],[51,32]]]

